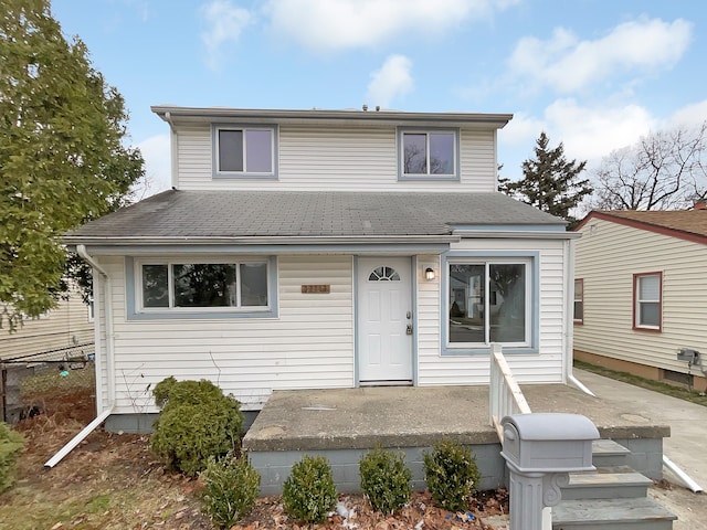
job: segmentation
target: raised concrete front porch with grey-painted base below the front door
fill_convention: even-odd
[[[604,438],[631,451],[627,464],[651,478],[662,477],[663,437],[636,406],[619,406],[561,384],[523,388],[534,412],[588,416]],[[282,484],[303,454],[329,459],[339,491],[359,488],[358,462],[381,445],[405,454],[413,487],[424,489],[423,455],[435,443],[453,439],[472,446],[482,475],[481,489],[506,483],[496,431],[488,425],[486,386],[388,386],[277,391],[243,438],[243,448],[261,473],[263,495]]]

